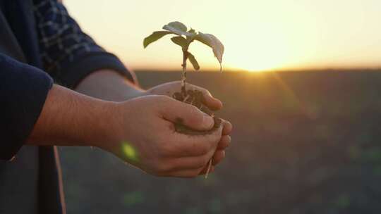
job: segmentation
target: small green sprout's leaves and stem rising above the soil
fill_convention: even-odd
[[[146,37],[143,42],[144,48],[146,48],[152,42],[156,42],[158,39],[164,37],[167,34],[176,34],[177,36],[172,37],[171,41],[174,44],[181,46],[183,50],[183,77],[182,77],[182,89],[185,90],[186,87],[186,61],[190,61],[195,70],[200,70],[200,65],[198,65],[198,61],[195,59],[195,56],[188,51],[189,45],[193,41],[202,42],[207,46],[210,46],[213,50],[214,56],[219,61],[219,70],[222,71],[222,55],[224,55],[224,45],[222,42],[217,39],[212,34],[204,34],[202,32],[196,32],[194,29],[188,30],[186,25],[180,22],[171,22],[168,25],[164,25],[164,30],[155,31],[150,36]]]

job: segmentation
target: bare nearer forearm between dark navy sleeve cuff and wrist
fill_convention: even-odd
[[[107,140],[104,121],[114,103],[54,85],[26,144],[96,146]]]

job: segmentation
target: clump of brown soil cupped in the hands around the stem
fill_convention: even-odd
[[[178,101],[182,101],[184,103],[188,103],[200,109],[200,111],[210,115],[214,119],[214,126],[210,130],[199,131],[193,130],[186,125],[183,125],[183,119],[178,118],[175,122],[175,130],[176,132],[188,135],[205,135],[210,134],[217,130],[222,123],[221,118],[217,118],[214,116],[214,113],[204,105],[204,95],[202,92],[198,90],[188,90],[186,91],[184,88],[181,88],[181,92],[176,92],[172,95],[172,97]]]

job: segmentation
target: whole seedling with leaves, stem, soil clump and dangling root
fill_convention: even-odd
[[[222,42],[214,37],[212,34],[204,34],[202,32],[196,32],[194,29],[188,30],[186,25],[180,22],[171,22],[168,25],[164,25],[162,31],[155,31],[150,36],[146,37],[143,41],[143,46],[146,48],[152,42],[156,42],[161,39],[165,35],[175,34],[175,37],[171,37],[171,41],[174,44],[181,46],[181,50],[183,51],[183,63],[181,67],[183,68],[182,77],[181,77],[181,92],[177,92],[173,94],[174,99],[179,101],[183,101],[185,103],[189,103],[193,106],[200,108],[201,111],[214,116],[212,111],[210,111],[206,106],[202,104],[203,95],[198,91],[186,90],[186,63],[189,61],[195,70],[200,70],[200,65],[198,61],[195,59],[195,56],[188,51],[189,46],[192,42],[198,41],[207,46],[210,46],[213,50],[214,56],[217,58],[219,62],[219,71],[222,72],[222,55],[224,54],[224,45]],[[212,130],[207,132],[198,132],[195,130],[190,130],[188,127],[182,125],[181,119],[179,122],[176,122],[176,131],[182,132],[185,134],[208,134],[209,132],[214,131],[214,129],[218,128],[221,125],[221,119],[214,117],[214,127]],[[205,174],[205,178],[210,172],[210,168],[212,165],[212,159],[210,159],[207,164],[207,172]]]

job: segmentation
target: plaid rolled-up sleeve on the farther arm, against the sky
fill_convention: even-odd
[[[110,69],[136,83],[134,73],[85,34],[63,4],[34,0],[34,12],[44,69],[56,82],[74,88],[90,73]]]

